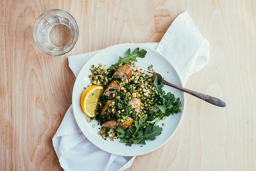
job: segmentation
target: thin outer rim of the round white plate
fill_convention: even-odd
[[[151,50],[157,52],[160,56],[162,56],[163,58],[165,58],[165,59],[169,62],[169,64],[174,68],[174,70],[175,70],[176,73],[177,73],[178,79],[180,80],[180,83],[181,83],[180,86],[181,86],[181,87],[184,87],[183,82],[182,82],[181,77],[180,77],[180,74],[178,73],[177,69],[176,69],[175,66],[172,64],[172,62],[171,62],[167,57],[165,57],[161,52],[157,51],[157,50],[154,49],[154,48],[151,48],[151,47],[148,47],[148,46],[144,46],[144,45],[141,45],[141,44],[137,44],[137,43],[121,43],[121,44],[116,44],[116,45],[112,45],[112,46],[109,46],[109,47],[107,47],[107,48],[104,48],[104,49],[102,49],[102,50],[99,51],[99,52],[106,51],[106,50],[108,50],[108,48],[113,48],[113,46],[123,46],[123,45],[127,45],[127,46],[128,46],[128,45],[134,45],[134,46],[140,46],[139,48],[143,48],[143,47],[144,47],[144,48],[150,48]],[[99,53],[99,52],[98,52],[98,53]],[[87,63],[89,63],[98,53],[94,54],[92,57],[90,57],[89,60],[86,61],[86,63],[84,63],[84,65],[81,67],[81,69],[80,69],[80,71],[79,71],[77,77],[79,77],[79,75],[81,74],[81,71],[83,70],[83,68],[85,67],[85,65],[86,65]],[[74,85],[73,85],[73,90],[72,90],[72,104],[73,104],[73,101],[74,101],[74,100],[73,100],[73,98],[74,98],[74,96],[73,96],[73,94],[74,94],[74,88],[75,88],[76,83],[78,82],[78,81],[77,81],[77,77],[76,77],[75,83],[74,83]],[[160,148],[160,147],[162,147],[164,144],[166,144],[166,142],[168,142],[168,141],[172,138],[172,136],[176,133],[176,131],[177,131],[177,129],[180,127],[180,123],[181,123],[181,121],[182,121],[182,119],[183,119],[183,115],[184,115],[184,111],[185,111],[185,106],[186,106],[186,96],[185,96],[185,93],[184,93],[184,92],[182,92],[182,94],[183,94],[183,99],[184,99],[184,103],[182,104],[182,105],[183,105],[183,109],[182,109],[182,111],[181,111],[181,113],[180,113],[180,114],[181,114],[181,118],[180,118],[179,123],[177,124],[177,128],[175,128],[175,131],[170,135],[170,137],[169,137],[168,139],[166,139],[164,142],[160,143],[160,145],[157,145],[155,148],[152,148],[152,149],[148,150],[148,152],[146,152],[146,153],[137,154],[136,156],[143,155],[143,154],[148,154],[148,153],[150,153],[150,152],[152,152],[152,151],[157,150],[158,148]],[[72,110],[73,110],[73,115],[74,115],[74,117],[75,117],[76,123],[77,123],[79,129],[81,130],[81,128],[80,128],[80,126],[79,126],[79,123],[77,122],[78,118],[77,118],[77,116],[76,116],[76,114],[75,114],[74,108],[72,108]],[[82,132],[82,134],[85,136],[84,131],[81,130],[81,132]],[[86,136],[85,136],[85,137],[86,137]],[[87,137],[86,137],[86,139],[89,140]],[[90,140],[89,140],[89,141],[90,141]],[[90,142],[91,142],[91,141],[90,141]],[[99,149],[103,150],[103,151],[106,151],[106,152],[108,152],[108,153],[110,153],[110,154],[116,154],[116,153],[112,153],[111,151],[102,149],[99,145],[96,145],[96,144],[94,144],[93,142],[91,142],[91,143],[92,143],[93,145],[95,145],[96,147],[98,147]],[[132,148],[132,147],[131,147],[131,148]],[[120,155],[120,154],[116,154],[116,155]],[[131,157],[131,156],[134,156],[134,155],[121,155],[121,156]]]

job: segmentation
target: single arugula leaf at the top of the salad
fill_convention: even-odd
[[[118,62],[116,64],[112,64],[111,67],[108,68],[108,70],[110,70],[111,68],[113,68],[115,66],[119,66],[121,63],[131,64],[130,60],[135,60],[137,62],[136,57],[144,58],[147,51],[145,51],[144,49],[142,49],[141,51],[139,51],[139,50],[140,50],[140,48],[136,48],[134,53],[131,54],[131,49],[129,48],[127,50],[126,57],[122,58],[121,56],[119,56]]]

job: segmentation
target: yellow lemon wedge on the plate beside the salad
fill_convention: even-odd
[[[97,102],[102,94],[102,90],[102,86],[90,85],[82,92],[80,99],[81,108],[89,117],[95,117]]]

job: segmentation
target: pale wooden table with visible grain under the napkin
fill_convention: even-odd
[[[79,40],[52,57],[32,38],[36,18],[68,11]],[[0,170],[61,170],[52,147],[75,77],[67,56],[119,43],[159,42],[172,21],[188,11],[209,40],[210,59],[186,88],[227,102],[218,108],[190,95],[176,134],[163,147],[136,157],[129,171],[256,170],[255,0],[1,0]]]

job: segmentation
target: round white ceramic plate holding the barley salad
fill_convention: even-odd
[[[172,137],[180,125],[181,119],[183,117],[183,112],[185,109],[185,94],[182,91],[178,91],[174,88],[168,86],[164,87],[166,92],[172,92],[175,94],[176,98],[180,97],[180,101],[183,104],[183,110],[178,114],[170,115],[166,120],[161,120],[158,123],[158,125],[163,127],[163,131],[161,135],[157,136],[156,140],[148,140],[146,141],[146,145],[133,144],[131,147],[119,142],[119,139],[115,140],[114,142],[108,139],[108,141],[104,140],[101,135],[97,134],[99,131],[98,128],[100,128],[100,125],[98,125],[97,121],[93,120],[91,123],[87,123],[86,121],[86,114],[84,114],[80,106],[81,93],[84,90],[84,87],[91,85],[90,79],[88,77],[91,74],[89,70],[91,65],[94,64],[98,66],[99,63],[102,63],[107,67],[111,66],[111,64],[114,64],[118,61],[119,55],[121,57],[126,55],[128,48],[131,48],[131,53],[135,50],[135,48],[140,48],[140,50],[145,49],[147,51],[145,58],[137,58],[137,66],[140,66],[141,68],[147,68],[152,64],[154,69],[160,73],[167,81],[176,85],[183,86],[180,80],[180,76],[175,70],[175,67],[162,54],[146,46],[125,43],[105,48],[84,64],[78,77],[76,78],[76,82],[73,87],[72,103],[76,122],[82,133],[85,135],[85,137],[87,137],[88,140],[90,140],[90,142],[102,150],[112,154],[117,154],[120,156],[137,156],[156,150]],[[162,126],[162,123],[166,123],[166,126]],[[93,124],[96,125],[95,128],[92,128]]]

